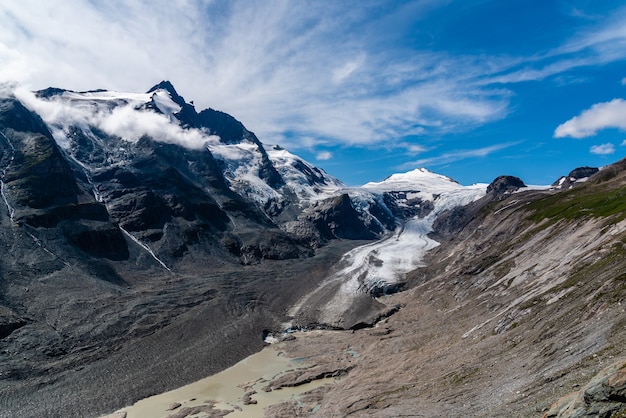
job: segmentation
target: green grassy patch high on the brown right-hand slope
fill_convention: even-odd
[[[626,187],[577,187],[538,199],[527,206],[533,211],[530,219],[536,222],[550,219],[606,218],[616,216],[616,221],[626,218]]]

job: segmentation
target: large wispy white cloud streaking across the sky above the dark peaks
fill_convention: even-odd
[[[380,146],[504,118],[511,84],[626,57],[624,13],[534,56],[402,43],[449,3],[8,0],[0,79],[126,91],[170,79],[264,142]]]

